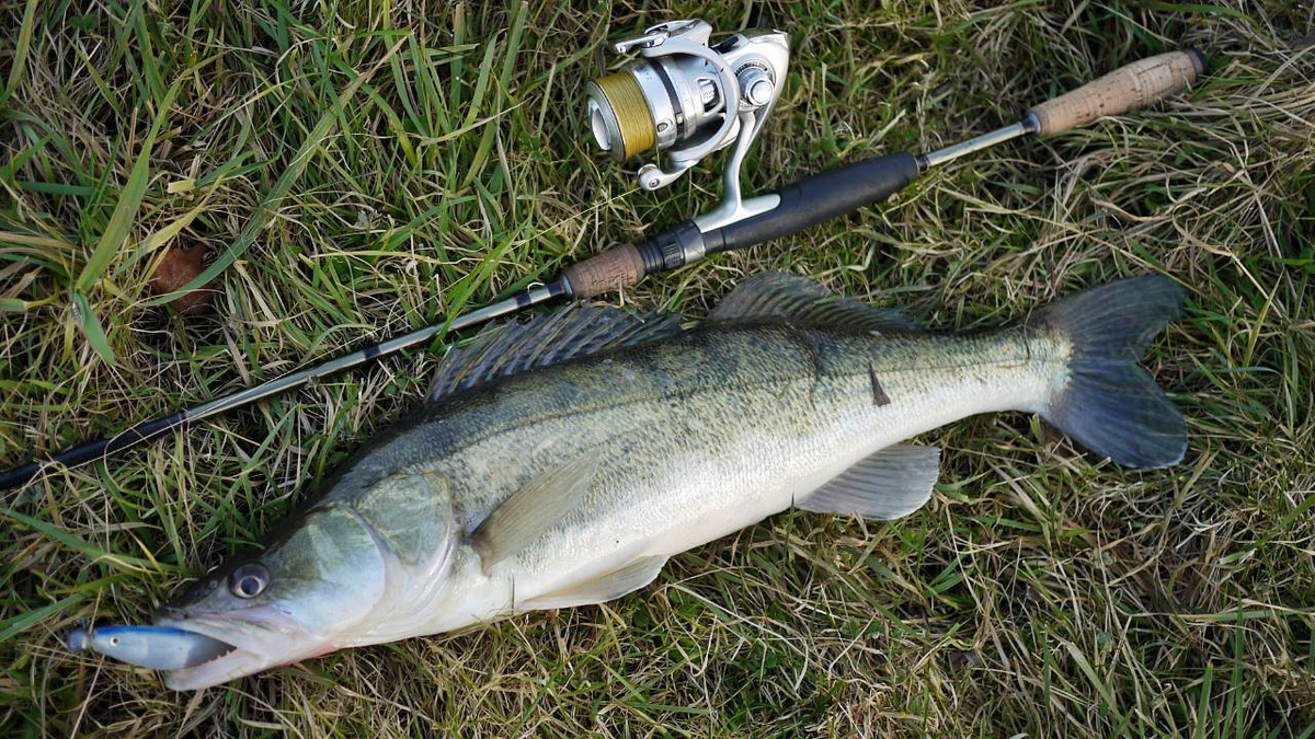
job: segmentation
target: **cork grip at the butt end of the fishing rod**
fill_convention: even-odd
[[[1120,116],[1182,92],[1206,72],[1206,55],[1195,49],[1132,62],[1030,112],[1041,134],[1085,126],[1102,116]]]

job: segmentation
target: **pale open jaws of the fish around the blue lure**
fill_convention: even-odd
[[[279,613],[243,613],[241,617],[233,613],[184,618],[160,617],[155,619],[155,625],[189,631],[229,646],[227,651],[200,664],[162,671],[164,685],[171,690],[213,688],[277,664],[304,659],[313,652],[313,650],[295,650],[292,655],[288,654],[288,644],[302,642],[305,634],[292,623],[291,618]],[[275,643],[279,646],[275,647]]]

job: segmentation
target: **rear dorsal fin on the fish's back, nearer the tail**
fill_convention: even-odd
[[[919,327],[903,313],[873,308],[840,297],[807,277],[764,272],[750,277],[727,295],[709,321],[778,318],[818,326],[853,326],[865,331],[910,333]]]

